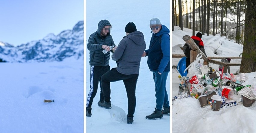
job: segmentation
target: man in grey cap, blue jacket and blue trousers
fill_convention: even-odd
[[[163,115],[170,115],[168,94],[166,91],[166,80],[170,71],[170,30],[161,25],[160,20],[150,20],[152,37],[149,49],[142,57],[148,56],[148,67],[153,72],[156,91],[156,108],[146,119],[161,119]],[[163,108],[163,109],[162,109]]]

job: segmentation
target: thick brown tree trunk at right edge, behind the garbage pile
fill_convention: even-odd
[[[248,0],[245,15],[244,47],[240,72],[256,71],[256,1]]]

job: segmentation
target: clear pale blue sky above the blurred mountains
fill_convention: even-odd
[[[72,30],[81,20],[83,0],[0,0],[0,41],[26,44]]]

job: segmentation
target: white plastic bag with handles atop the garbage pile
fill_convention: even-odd
[[[187,74],[187,77],[188,78],[191,78],[193,77],[194,75],[200,75],[201,72],[200,72],[200,67],[202,67],[203,65],[198,63],[201,59],[201,57],[203,56],[202,53],[199,53],[197,55],[197,58],[194,62],[192,62],[185,70],[184,70],[184,73],[185,71],[188,69],[188,74]]]

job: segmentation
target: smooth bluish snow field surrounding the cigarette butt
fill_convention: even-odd
[[[83,132],[83,60],[0,63],[0,68],[1,133]]]

